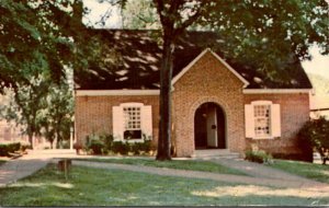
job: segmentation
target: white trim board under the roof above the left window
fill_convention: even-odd
[[[159,95],[159,90],[76,90],[76,96]]]

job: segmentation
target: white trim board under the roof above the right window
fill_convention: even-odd
[[[311,89],[243,89],[243,94],[298,94],[309,93]]]

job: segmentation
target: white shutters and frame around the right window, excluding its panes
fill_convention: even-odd
[[[268,136],[257,136],[254,107],[270,105],[269,131]],[[253,101],[245,106],[246,137],[252,139],[274,139],[281,137],[281,112],[280,105],[273,104],[272,101]]]

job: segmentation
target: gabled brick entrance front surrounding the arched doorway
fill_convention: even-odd
[[[178,157],[194,153],[194,115],[207,102],[219,105],[226,115],[226,146],[245,149],[243,83],[211,53],[205,54],[174,84],[172,94],[173,141]]]

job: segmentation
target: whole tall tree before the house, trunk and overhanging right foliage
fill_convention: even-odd
[[[124,9],[128,1],[111,2]],[[241,61],[254,60],[252,65],[258,72],[285,82],[288,81],[284,80],[286,73],[281,70],[281,62],[310,58],[308,48],[313,44],[317,44],[322,54],[329,50],[326,0],[152,0],[149,5],[156,8],[158,19],[155,21],[159,20],[162,32],[158,160],[171,159],[172,53],[177,39],[189,28],[219,33],[229,48],[223,56],[230,54]],[[147,12],[149,9],[140,11],[141,14]]]

